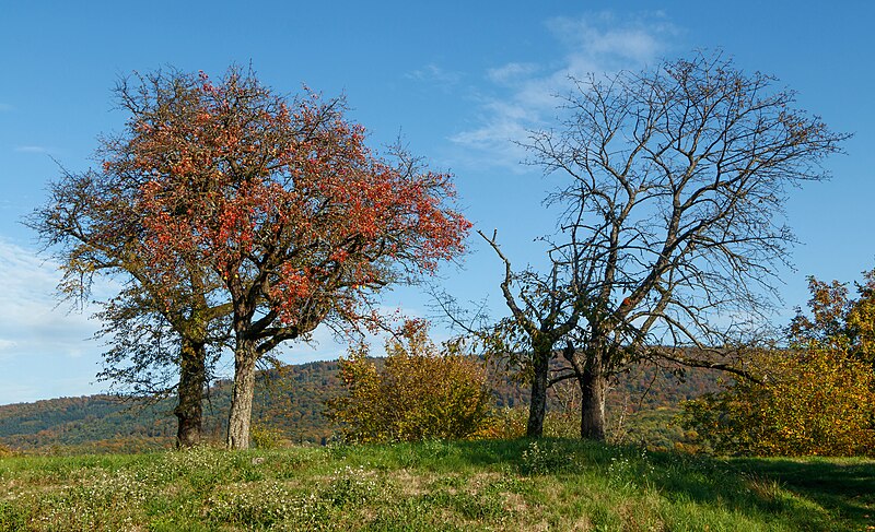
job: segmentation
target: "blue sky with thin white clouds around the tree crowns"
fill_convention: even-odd
[[[790,224],[804,243],[781,287],[786,319],[805,275],[851,281],[875,267],[875,2],[5,2],[0,4],[0,404],[95,393],[101,345],[90,310],[56,307],[58,273],[21,217],[59,175],[93,164],[101,132],[119,129],[120,75],[164,66],[221,74],[252,62],[283,93],[302,83],[346,94],[374,146],[399,133],[456,175],[478,228],[499,229],[520,265],[552,228],[550,181],[521,166],[510,140],[549,127],[567,75],[641,68],[721,47],[746,71],[798,91],[798,107],[852,132],[827,162],[830,182],[794,190]],[[499,264],[476,239],[443,272],[462,299],[500,310]],[[387,306],[427,316],[428,298],[396,291]],[[290,346],[289,362],[337,355]],[[342,348],[340,348],[342,351]]]

